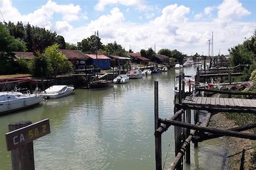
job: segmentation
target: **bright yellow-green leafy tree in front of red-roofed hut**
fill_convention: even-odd
[[[45,57],[47,57],[51,63],[52,73],[55,78],[61,71],[65,71],[66,73],[72,71],[72,65],[68,64],[69,61],[65,55],[62,55],[62,53],[57,51],[58,48],[59,45],[54,44],[45,48],[44,51]]]

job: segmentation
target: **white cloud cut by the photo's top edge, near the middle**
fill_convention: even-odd
[[[143,0],[99,0],[99,2],[95,6],[95,10],[103,11],[105,6],[109,4],[122,4],[124,6],[137,6],[138,9],[144,10],[146,8],[146,4]]]

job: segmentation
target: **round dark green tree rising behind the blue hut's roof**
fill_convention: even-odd
[[[96,52],[96,45],[98,50],[104,50],[102,43],[100,42],[100,38],[95,35],[92,35],[86,39],[83,39],[81,42],[77,43],[78,50],[81,50],[85,53],[95,53]]]

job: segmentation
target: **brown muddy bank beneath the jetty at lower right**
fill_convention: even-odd
[[[209,127],[219,129],[230,129],[237,127],[235,120],[226,117],[225,113],[217,113],[211,117]],[[243,131],[252,133],[252,131]],[[256,162],[253,162],[253,141],[250,139],[234,138],[224,136],[219,138],[228,150],[225,161],[225,169],[240,169],[243,149],[244,153],[244,169],[256,169]]]

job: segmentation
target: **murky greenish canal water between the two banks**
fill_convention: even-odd
[[[159,117],[170,118],[175,76],[180,73],[194,75],[196,67],[171,69],[105,90],[76,89],[68,97],[1,116],[0,169],[12,169],[4,137],[8,123],[44,118],[50,119],[51,134],[34,141],[36,169],[155,169],[154,81],[159,81]],[[162,147],[166,169],[175,157],[172,127],[164,132]],[[190,168],[220,169],[225,153],[218,141],[199,144],[199,150],[191,152]]]

